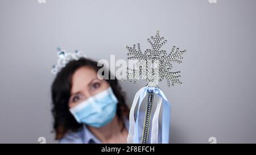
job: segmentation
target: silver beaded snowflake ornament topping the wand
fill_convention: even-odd
[[[187,51],[180,51],[175,46],[172,47],[171,52],[167,55],[167,52],[162,50],[167,40],[164,37],[159,36],[159,31],[156,31],[155,36],[151,36],[151,39],[147,39],[152,49],[146,49],[144,53],[141,51],[140,44],[133,45],[133,47],[125,46],[128,50],[127,59],[137,60],[138,69],[127,68],[126,78],[122,80],[129,80],[134,85],[136,84],[139,77],[144,81],[147,81],[147,86],[158,87],[158,83],[163,81],[164,78],[167,80],[167,85],[170,87],[174,86],[175,83],[181,85],[180,72],[172,72],[172,62],[181,64],[183,55]]]

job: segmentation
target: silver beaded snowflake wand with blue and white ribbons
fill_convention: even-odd
[[[152,41],[153,42],[152,42]],[[169,132],[170,132],[170,103],[168,102],[163,91],[158,87],[158,83],[162,82],[164,78],[167,80],[167,85],[170,87],[174,86],[175,83],[181,85],[179,81],[180,72],[171,72],[172,62],[181,64],[184,53],[187,51],[179,51],[179,48],[175,46],[172,48],[171,53],[167,56],[167,52],[160,50],[167,40],[164,37],[159,36],[159,31],[156,31],[155,37],[151,36],[151,40],[147,39],[150,43],[152,49],[146,49],[144,53],[141,52],[140,44],[133,45],[133,47],[126,46],[128,50],[127,59],[137,60],[137,66],[139,69],[127,68],[126,78],[122,80],[129,80],[134,85],[136,84],[139,77],[142,77],[144,81],[147,81],[147,85],[140,89],[134,98],[133,104],[130,110],[130,127],[129,135],[127,137],[127,143],[139,143],[139,108],[141,106],[142,100],[148,94],[148,100],[146,105],[146,114],[144,117],[144,125],[142,131],[141,143],[146,144],[150,129],[151,120],[151,108],[154,99],[154,95],[157,94],[160,100],[156,104],[156,110],[152,118],[152,130],[151,130],[151,141],[150,143],[158,143],[158,120],[160,107],[163,104],[162,112],[162,143],[169,143]],[[163,41],[164,40],[164,41]],[[162,42],[162,43],[161,43]],[[135,107],[138,104],[137,119],[134,119]]]

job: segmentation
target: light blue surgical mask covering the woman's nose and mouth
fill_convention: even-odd
[[[115,116],[118,100],[111,87],[69,109],[78,123],[102,127]]]

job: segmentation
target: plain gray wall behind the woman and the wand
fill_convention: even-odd
[[[256,143],[256,1],[0,1],[0,143],[56,143],[50,86],[56,47],[94,60],[160,35],[187,49],[172,105],[171,143]],[[122,82],[131,104],[144,82]]]

